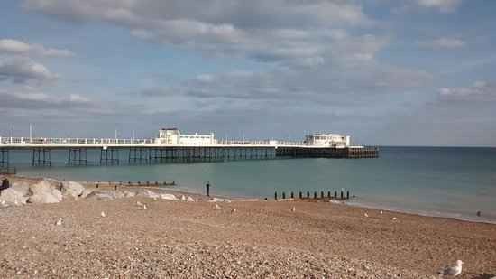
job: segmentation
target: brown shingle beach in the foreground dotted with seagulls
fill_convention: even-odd
[[[188,197],[195,201],[65,199],[0,209],[0,272],[8,278],[433,278],[461,259],[457,278],[496,274],[496,225],[332,202]]]

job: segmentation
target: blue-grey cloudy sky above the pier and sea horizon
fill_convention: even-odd
[[[496,146],[496,1],[3,0],[0,135]]]

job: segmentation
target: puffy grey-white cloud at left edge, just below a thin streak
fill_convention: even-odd
[[[28,81],[44,82],[57,79],[45,66],[27,58],[0,60],[0,81],[11,80],[14,83]]]

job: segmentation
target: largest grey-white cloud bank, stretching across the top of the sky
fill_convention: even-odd
[[[113,23],[153,42],[300,65],[326,60],[323,52],[339,38],[321,36],[323,31],[372,23],[360,5],[341,0],[26,0],[23,6],[69,20]],[[349,57],[371,60],[372,52]]]

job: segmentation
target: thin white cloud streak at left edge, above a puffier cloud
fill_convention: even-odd
[[[29,44],[13,39],[0,39],[0,53],[2,52],[50,57],[69,57],[74,55],[74,53],[69,50],[46,48],[41,44]]]

